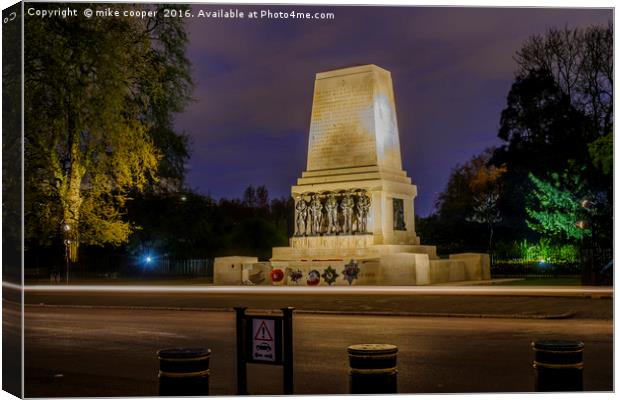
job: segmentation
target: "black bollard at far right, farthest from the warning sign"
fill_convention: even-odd
[[[532,349],[537,392],[583,390],[583,342],[539,340]]]

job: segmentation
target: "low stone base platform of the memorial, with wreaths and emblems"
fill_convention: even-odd
[[[412,246],[417,247],[417,246]],[[422,246],[433,247],[433,246]],[[332,253],[333,254],[333,253]],[[240,268],[235,270],[236,283],[230,271],[225,274],[226,284],[276,285],[276,286],[415,286],[438,283],[477,281],[490,279],[488,254],[452,254],[449,259],[439,259],[428,253],[386,252],[377,257],[322,257],[312,259],[275,259],[269,262],[252,262],[235,259]],[[231,270],[232,258],[222,262],[216,259],[216,277]],[[237,272],[238,271],[238,272]],[[221,278],[214,280],[222,284]]]

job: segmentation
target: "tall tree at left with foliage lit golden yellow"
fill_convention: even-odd
[[[72,260],[80,243],[127,241],[131,191],[182,180],[172,115],[190,99],[187,36],[161,14],[26,21],[26,235],[62,233]]]

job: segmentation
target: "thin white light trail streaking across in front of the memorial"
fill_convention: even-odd
[[[2,283],[3,287],[21,290],[22,286]],[[192,294],[269,294],[269,295],[463,295],[463,296],[613,296],[612,287],[568,286],[158,286],[158,285],[26,285],[25,292],[105,292],[105,293],[192,293]]]

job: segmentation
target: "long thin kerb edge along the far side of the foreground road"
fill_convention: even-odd
[[[71,308],[71,309],[110,309],[110,310],[153,310],[153,311],[203,311],[203,312],[233,312],[232,308],[208,307],[157,307],[157,306],[93,306],[69,304],[24,304],[26,307],[42,308]],[[273,313],[274,310],[252,309],[252,312],[262,314]],[[420,313],[406,311],[330,311],[330,310],[295,310],[296,314],[322,315],[368,315],[381,317],[434,317],[434,318],[503,318],[503,319],[568,319],[575,316],[569,311],[561,314],[467,314],[467,313]]]

